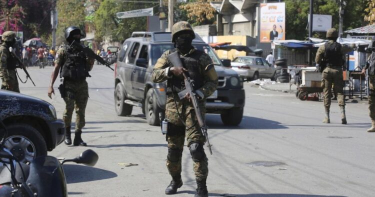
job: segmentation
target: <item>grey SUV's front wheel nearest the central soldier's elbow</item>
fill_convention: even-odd
[[[149,88],[146,93],[146,97],[144,99],[144,112],[149,125],[160,125],[159,112],[161,112],[161,108],[157,105],[153,88]]]

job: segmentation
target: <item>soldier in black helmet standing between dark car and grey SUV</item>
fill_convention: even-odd
[[[62,119],[66,126],[66,135],[64,143],[71,144],[70,123],[71,115],[75,107],[75,131],[73,145],[86,146],[81,138],[82,127],[85,124],[84,111],[88,99],[88,86],[86,77],[90,76],[88,71],[92,69],[93,59],[86,57],[83,51],[72,45],[72,42],[80,42],[84,34],[78,27],[69,26],[65,30],[65,38],[69,45],[58,49],[54,62],[54,68],[51,74],[51,80],[48,87],[48,96],[54,94],[53,83],[56,80],[58,72],[63,77],[62,85],[59,86],[61,97],[65,101],[65,110]]]

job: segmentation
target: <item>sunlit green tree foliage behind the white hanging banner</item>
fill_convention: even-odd
[[[130,37],[133,31],[145,31],[146,17],[116,18],[116,12],[147,8],[149,6],[149,3],[103,0],[95,11],[93,19],[96,29],[95,41],[101,42],[103,36],[108,36],[110,40],[123,41]]]

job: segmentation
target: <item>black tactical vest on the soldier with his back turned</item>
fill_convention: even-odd
[[[344,63],[341,53],[341,44],[334,41],[324,44],[324,63],[327,67],[341,67]]]

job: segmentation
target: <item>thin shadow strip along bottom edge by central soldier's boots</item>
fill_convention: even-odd
[[[177,191],[177,193],[195,194],[195,191]],[[343,195],[313,195],[313,194],[293,194],[293,193],[249,193],[249,194],[231,194],[231,193],[210,193],[208,196],[224,197],[346,197]]]

